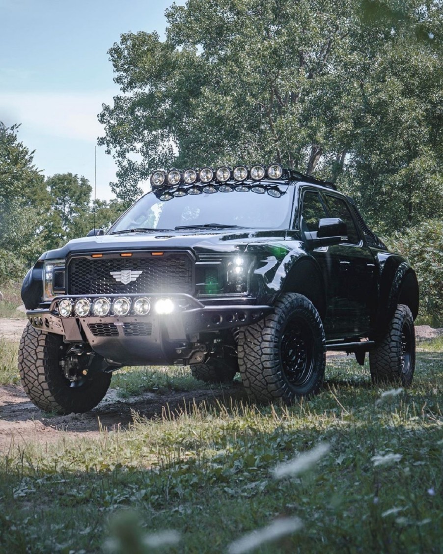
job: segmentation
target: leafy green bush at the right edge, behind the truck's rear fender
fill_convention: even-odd
[[[443,327],[443,223],[431,219],[396,234],[392,247],[408,257],[415,269],[422,321]]]

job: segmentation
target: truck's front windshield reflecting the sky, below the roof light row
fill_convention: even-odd
[[[293,187],[279,184],[279,197],[247,192],[186,194],[162,201],[145,194],[110,229],[110,233],[177,228],[247,227],[288,229]]]

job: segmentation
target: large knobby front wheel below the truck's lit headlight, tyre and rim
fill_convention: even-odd
[[[320,391],[326,340],[320,316],[306,296],[286,293],[274,314],[242,327],[238,353],[244,387],[258,402],[291,403]]]

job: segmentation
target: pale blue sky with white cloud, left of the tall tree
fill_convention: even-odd
[[[176,0],[184,4],[184,0]],[[0,0],[0,121],[20,123],[45,176],[84,175],[94,185],[97,114],[119,89],[107,50],[120,35],[163,36],[172,0]],[[112,157],[97,147],[97,198],[112,198]]]

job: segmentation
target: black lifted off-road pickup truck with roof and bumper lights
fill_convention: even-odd
[[[25,276],[18,365],[40,408],[85,412],[126,365],[240,372],[259,402],[320,390],[326,351],[369,352],[374,383],[411,383],[419,289],[351,198],[279,165],[156,171],[104,233]]]

